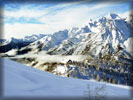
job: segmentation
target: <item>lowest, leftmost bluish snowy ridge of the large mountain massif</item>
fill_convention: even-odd
[[[28,46],[28,48],[36,48],[47,51],[50,48],[58,46],[63,40],[68,38],[68,30],[58,31],[52,35],[47,35],[44,38],[38,39]],[[40,51],[39,50],[39,51]]]

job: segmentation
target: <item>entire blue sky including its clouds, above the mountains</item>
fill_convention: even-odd
[[[126,17],[129,2],[44,2],[5,3],[3,8],[4,38],[32,34],[52,34],[58,30],[82,27],[89,19],[109,13]]]

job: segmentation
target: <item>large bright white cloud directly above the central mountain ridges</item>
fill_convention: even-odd
[[[96,19],[99,14],[102,16],[104,12],[95,13],[95,10],[99,10],[104,7],[108,7],[110,4],[100,3],[93,7],[88,5],[80,5],[71,8],[67,8],[58,11],[54,14],[49,14],[40,18],[40,22],[47,23],[50,27],[56,27],[56,29],[80,27],[88,23],[89,19]]]

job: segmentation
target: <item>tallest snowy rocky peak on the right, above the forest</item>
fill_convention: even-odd
[[[128,22],[116,14],[109,14],[97,21],[88,24],[91,36],[81,42],[74,54],[93,55],[113,53],[118,47],[127,49],[124,42],[130,37],[131,27]]]

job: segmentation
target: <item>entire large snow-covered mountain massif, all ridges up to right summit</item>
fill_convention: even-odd
[[[103,57],[110,54],[130,58],[132,52],[128,50],[128,42],[126,43],[130,37],[129,21],[116,14],[109,14],[96,21],[89,20],[84,27],[55,32],[29,47],[37,47],[51,55],[90,54]]]

